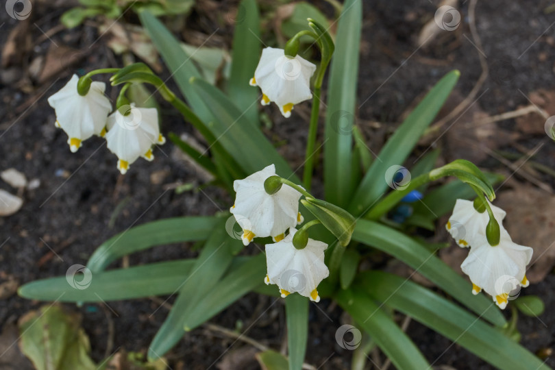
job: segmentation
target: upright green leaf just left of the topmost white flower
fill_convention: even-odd
[[[306,23],[306,20],[305,20]],[[241,1],[233,35],[233,54],[227,95],[251,123],[258,126],[258,88],[249,85],[262,53],[260,16],[255,0]]]

